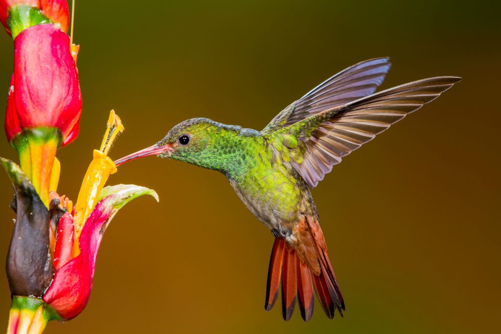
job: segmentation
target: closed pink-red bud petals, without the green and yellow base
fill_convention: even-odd
[[[82,97],[70,39],[57,25],[28,28],[15,39],[14,75],[5,130],[12,141],[25,129],[57,128],[62,146],[78,135]]]

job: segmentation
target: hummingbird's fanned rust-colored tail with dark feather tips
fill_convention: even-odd
[[[307,254],[298,254],[295,247],[289,245],[286,239],[275,239],[273,244],[272,255],[270,258],[270,267],[268,269],[268,284],[266,290],[265,309],[267,311],[273,308],[279,294],[280,282],[282,280],[282,314],[284,320],[289,320],[294,312],[296,300],[299,300],[301,316],[305,321],[310,320],[313,315],[314,292],[317,292],[320,305],[325,311],[325,314],[332,319],[334,311],[337,309],[341,316],[343,310],[346,310],[343,296],[339,290],[334,270],[329,260],[327,250],[325,249],[325,241],[323,235],[321,240],[315,238],[322,233],[320,226],[313,226],[313,221],[305,219],[305,228],[308,228],[307,234],[309,240],[304,244],[311,247],[301,247],[306,251],[311,251],[317,263],[314,266],[308,265],[304,258],[308,258]],[[317,223],[318,224],[318,223]],[[308,242],[310,241],[310,242]],[[299,298],[298,298],[299,296]]]

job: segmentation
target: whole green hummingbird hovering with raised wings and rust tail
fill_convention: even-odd
[[[343,316],[345,302],[310,189],[346,155],[461,80],[434,77],[375,93],[390,66],[389,58],[376,58],[337,73],[261,131],[193,118],[115,164],[157,155],[221,172],[275,237],[265,309],[272,309],[282,286],[286,321],[297,303],[308,321],[315,292],[330,319],[335,310]]]

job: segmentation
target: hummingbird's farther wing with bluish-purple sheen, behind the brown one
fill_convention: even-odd
[[[289,105],[262,132],[276,131],[324,110],[373,94],[390,66],[388,58],[375,58],[335,74]]]

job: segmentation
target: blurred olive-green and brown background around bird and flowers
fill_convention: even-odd
[[[262,129],[359,61],[392,57],[382,88],[463,81],[365,145],[313,190],[347,312],[264,311],[271,233],[217,172],[150,157],[109,184],[154,188],[116,216],[85,311],[48,333],[493,333],[501,316],[499,5],[492,1],[80,1],[74,41],[84,111],[59,151],[74,200],[109,110],[111,153],[149,146],[191,117]],[[0,91],[13,46],[0,34]],[[16,159],[6,140],[2,156]],[[1,175],[0,175],[1,176]],[[0,259],[13,225],[0,177]],[[10,293],[0,274],[0,318]],[[0,321],[1,322],[1,321]],[[1,326],[0,326],[1,328]],[[0,329],[1,330],[1,329]]]

